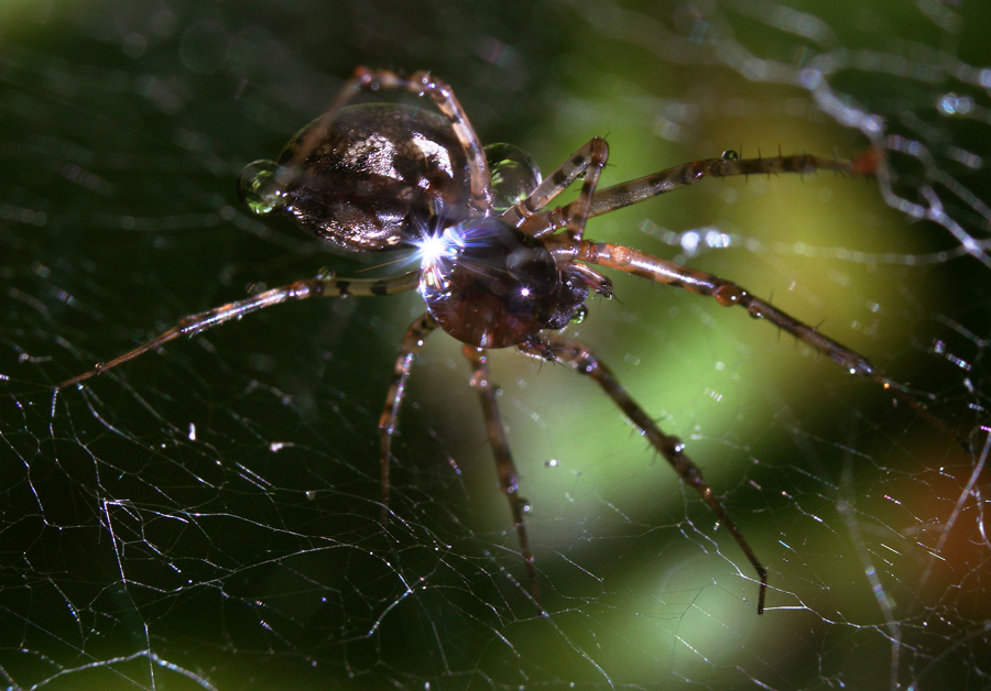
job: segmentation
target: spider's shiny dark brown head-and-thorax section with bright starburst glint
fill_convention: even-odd
[[[451,226],[421,250],[427,311],[469,346],[508,348],[559,329],[588,294],[541,242],[498,217]]]

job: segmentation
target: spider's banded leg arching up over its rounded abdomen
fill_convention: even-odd
[[[461,107],[454,89],[446,81],[437,79],[428,72],[417,72],[411,77],[402,77],[388,69],[369,69],[358,67],[348,81],[341,87],[330,108],[319,118],[319,122],[328,123],[334,114],[361,91],[378,91],[380,89],[394,89],[410,91],[423,96],[428,95],[437,110],[450,122],[451,130],[465,153],[468,156],[468,182],[471,187],[471,207],[479,212],[489,213],[492,210],[492,190],[489,186],[489,164],[481,140],[471,127],[468,114]],[[313,128],[301,143],[292,164],[286,167],[287,175],[293,175],[293,168],[300,167],[317,143],[327,135],[326,127]]]

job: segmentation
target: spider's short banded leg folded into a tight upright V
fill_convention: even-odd
[[[502,213],[502,220],[516,226],[525,233],[531,233],[529,219],[547,206],[555,197],[567,189],[578,176],[585,173],[585,183],[578,198],[568,205],[570,210],[567,219],[562,219],[560,224],[567,224],[568,234],[575,240],[580,240],[585,231],[585,220],[588,218],[589,206],[592,200],[599,174],[609,158],[609,146],[606,140],[593,136],[589,142],[576,151],[570,158],[560,164],[547,178],[530,193],[526,199],[507,209]],[[544,215],[538,218],[543,219]],[[544,220],[546,224],[546,220]]]

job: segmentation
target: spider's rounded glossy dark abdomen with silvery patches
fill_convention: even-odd
[[[258,169],[269,178],[255,179]],[[468,213],[468,161],[447,118],[394,103],[341,108],[303,128],[279,163],[255,162],[239,183],[318,238],[345,250],[395,250],[436,217]],[[270,186],[266,189],[265,186]]]

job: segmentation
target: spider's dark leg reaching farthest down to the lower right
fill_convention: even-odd
[[[671,464],[682,480],[695,487],[701,495],[709,508],[716,514],[716,518],[720,524],[725,525],[737,540],[737,545],[743,550],[748,561],[750,561],[754,571],[758,573],[761,588],[758,595],[758,614],[764,612],[764,597],[767,593],[767,570],[758,560],[756,555],[743,539],[743,535],[737,529],[737,525],[732,522],[722,504],[716,497],[716,494],[703,480],[701,471],[685,456],[685,445],[677,437],[665,435],[654,424],[654,420],[644,413],[643,408],[630,397],[627,390],[623,388],[616,380],[609,368],[606,366],[581,341],[574,339],[557,339],[553,343],[541,339],[536,343],[521,343],[518,346],[521,352],[538,358],[542,360],[553,359],[562,364],[566,364],[579,374],[590,376],[599,386],[612,398],[613,403],[625,414],[625,416],[636,426],[646,437],[651,446],[654,447],[664,459]]]

